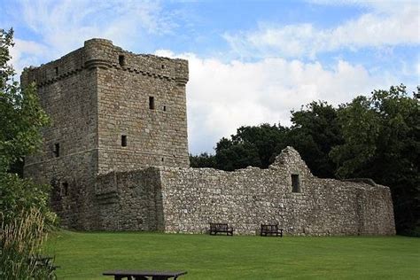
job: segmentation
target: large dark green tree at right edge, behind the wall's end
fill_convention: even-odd
[[[344,144],[331,151],[339,177],[391,188],[397,231],[420,234],[420,106],[404,85],[356,97],[338,113]]]

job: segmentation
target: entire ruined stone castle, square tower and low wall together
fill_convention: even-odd
[[[291,235],[395,234],[389,188],[317,178],[291,147],[268,169],[189,168],[183,59],[92,39],[21,81],[37,83],[53,121],[25,174],[54,186],[64,226],[204,233],[228,222],[255,234],[278,222]]]

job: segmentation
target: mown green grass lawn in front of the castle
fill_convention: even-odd
[[[420,238],[225,237],[60,231],[59,279],[113,279],[107,269],[187,270],[180,279],[420,279]]]

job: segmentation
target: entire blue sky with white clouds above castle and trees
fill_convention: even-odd
[[[333,105],[420,84],[420,2],[0,0],[18,72],[107,38],[190,61],[190,152],[242,125],[290,125],[312,100]]]

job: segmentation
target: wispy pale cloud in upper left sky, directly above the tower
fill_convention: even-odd
[[[26,66],[59,58],[94,37],[113,40],[128,50],[145,48],[148,36],[166,34],[175,27],[156,1],[23,0],[13,8],[9,12],[39,37],[40,43],[34,43],[16,35],[15,61],[19,58],[19,65]],[[29,47],[35,44],[36,48]]]

